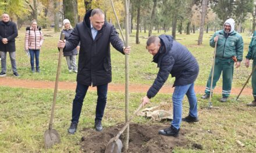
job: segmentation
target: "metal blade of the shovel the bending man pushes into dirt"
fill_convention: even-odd
[[[106,145],[105,153],[121,153],[122,148],[122,141],[120,139],[115,141],[115,137],[113,137]]]

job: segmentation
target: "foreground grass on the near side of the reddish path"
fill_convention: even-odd
[[[95,101],[97,93],[88,91],[84,100],[78,131],[67,134],[70,124],[74,91],[60,90],[56,101],[53,128],[61,136],[61,143],[49,150],[44,149],[44,132],[48,129],[54,90],[23,89],[0,87],[0,150],[1,152],[81,152],[81,137],[84,128],[93,128]],[[130,93],[130,113],[136,110],[144,93]],[[255,114],[253,107],[247,107],[251,96],[241,96],[235,101],[233,95],[227,103],[219,103],[220,94],[213,97],[213,105],[218,110],[201,108],[207,106],[207,100],[198,97],[198,114],[200,122],[189,124],[182,122],[186,130],[185,137],[189,142],[201,144],[203,150],[193,147],[176,147],[173,152],[256,152]],[[125,96],[121,92],[109,92],[103,126],[115,126],[125,121]],[[172,103],[171,94],[158,94],[151,100],[152,107],[162,103]],[[171,110],[172,108],[170,108]],[[189,104],[183,101],[183,116],[188,114]],[[159,124],[143,117],[133,121],[140,125]],[[157,130],[155,131],[157,132]],[[240,147],[236,140],[245,144]]]

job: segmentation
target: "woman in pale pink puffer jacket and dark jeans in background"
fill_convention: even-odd
[[[34,73],[34,57],[36,72],[40,72],[39,54],[44,37],[42,35],[41,27],[37,26],[37,21],[31,21],[30,27],[26,28],[25,50],[30,53],[31,71]]]

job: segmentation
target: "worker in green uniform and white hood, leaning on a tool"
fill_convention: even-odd
[[[215,65],[214,65],[214,78],[212,82],[212,89],[215,88],[216,82],[221,77],[223,79],[222,85],[222,99],[221,102],[226,102],[232,88],[232,79],[234,72],[234,63],[236,68],[240,67],[243,60],[243,38],[234,30],[234,20],[227,19],[223,24],[223,30],[216,31],[210,39],[210,46],[216,47]],[[208,99],[211,89],[212,70],[209,75],[205,94],[202,99]]]

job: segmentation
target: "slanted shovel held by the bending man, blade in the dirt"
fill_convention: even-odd
[[[108,144],[106,145],[105,153],[120,153],[123,148],[122,141],[119,139],[120,135],[125,131],[127,126],[129,126],[130,121],[134,118],[134,116],[140,111],[140,108],[142,107],[142,103],[140,106],[138,106],[137,110],[133,113],[133,116],[131,116],[130,120],[125,123],[125,126],[120,130],[120,132],[113,137],[111,140],[108,141]]]

